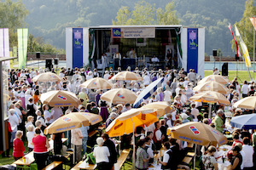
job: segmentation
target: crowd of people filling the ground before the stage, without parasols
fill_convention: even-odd
[[[159,122],[154,122],[148,127],[137,127],[135,132],[136,149],[136,167],[139,170],[147,169],[154,161],[161,164],[162,169],[176,169],[183,167],[189,169],[189,165],[183,163],[183,156],[187,153],[187,143],[182,140],[168,139],[166,129],[168,127],[178,126],[186,122],[203,122],[215,127],[220,133],[229,130],[233,135],[233,148],[230,150],[231,169],[253,169],[255,168],[255,156],[253,149],[256,147],[256,133],[246,131],[244,129],[233,129],[226,127],[226,118],[224,111],[230,111],[233,116],[242,114],[250,114],[253,111],[241,110],[233,105],[241,98],[255,95],[254,82],[243,82],[243,85],[237,82],[236,78],[227,84],[230,93],[226,94],[226,98],[230,100],[230,105],[215,105],[212,111],[212,118],[208,116],[204,103],[191,102],[189,98],[195,92],[193,87],[201,80],[197,76],[195,70],[190,69],[189,72],[181,69],[158,71],[143,71],[135,69],[135,73],[143,77],[143,81],[113,81],[111,77],[117,71],[110,69],[103,73],[94,69],[90,71],[90,67],[70,69],[61,68],[59,76],[63,78],[62,82],[32,82],[32,78],[43,73],[44,70],[14,70],[8,71],[9,74],[9,144],[13,146],[13,156],[15,160],[24,156],[24,142],[27,141],[29,151],[34,152],[35,161],[38,169],[42,169],[46,165],[49,156],[49,138],[54,140],[54,154],[60,155],[63,148],[61,138],[67,137],[67,147],[73,144],[75,161],[79,162],[87,151],[88,133],[91,128],[80,127],[71,130],[71,133],[55,133],[51,136],[44,135],[44,128],[48,127],[59,117],[71,112],[91,112],[102,116],[102,124],[105,127],[113,122],[113,120],[125,111],[132,108],[131,104],[125,105],[108,105],[107,102],[101,100],[101,95],[106,90],[92,90],[81,88],[80,84],[93,77],[102,77],[113,82],[113,88],[128,88],[133,92],[140,94],[143,88],[147,87],[160,77],[164,78],[162,86],[158,88],[154,94],[148,99],[144,99],[139,105],[147,105],[156,101],[166,101],[172,106],[172,112],[166,113]],[[127,71],[131,71],[128,68]],[[52,70],[55,72],[55,70]],[[216,74],[214,70],[213,74]],[[49,107],[40,103],[40,95],[51,90],[65,90],[76,94],[81,100],[81,105],[71,107]],[[128,138],[126,138],[128,136]],[[122,143],[127,143],[125,147],[130,147],[131,135],[126,135],[122,139]],[[93,156],[96,158],[98,169],[111,169],[117,161],[117,150],[113,139],[108,137],[107,133],[103,133],[102,137],[96,139],[97,147],[93,150]],[[128,146],[127,146],[128,145]],[[162,148],[165,150],[161,159],[155,160],[154,154],[158,153]],[[205,169],[218,169],[214,153],[218,148],[209,146],[206,151],[198,152],[197,156],[201,156],[202,164]],[[241,154],[242,153],[242,154]],[[9,156],[9,150],[3,154]]]

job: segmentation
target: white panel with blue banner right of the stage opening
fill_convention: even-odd
[[[183,68],[195,69],[204,77],[205,66],[205,28],[182,28],[181,44],[183,50]]]

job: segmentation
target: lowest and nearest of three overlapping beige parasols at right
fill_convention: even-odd
[[[224,97],[223,94],[218,92],[201,92],[199,94],[195,94],[191,98],[190,101],[198,101],[198,102],[205,102],[205,103],[222,103],[224,105],[230,105],[230,101]]]

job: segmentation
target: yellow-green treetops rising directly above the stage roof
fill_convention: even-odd
[[[167,3],[165,10],[155,9],[155,4],[139,1],[135,3],[132,11],[128,7],[122,6],[117,12],[115,20],[112,20],[114,26],[127,25],[176,25],[179,24],[174,3]]]

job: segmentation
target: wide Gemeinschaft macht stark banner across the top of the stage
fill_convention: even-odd
[[[155,37],[155,28],[143,28],[143,27],[134,27],[134,28],[112,28],[111,36],[113,38],[154,38]]]

